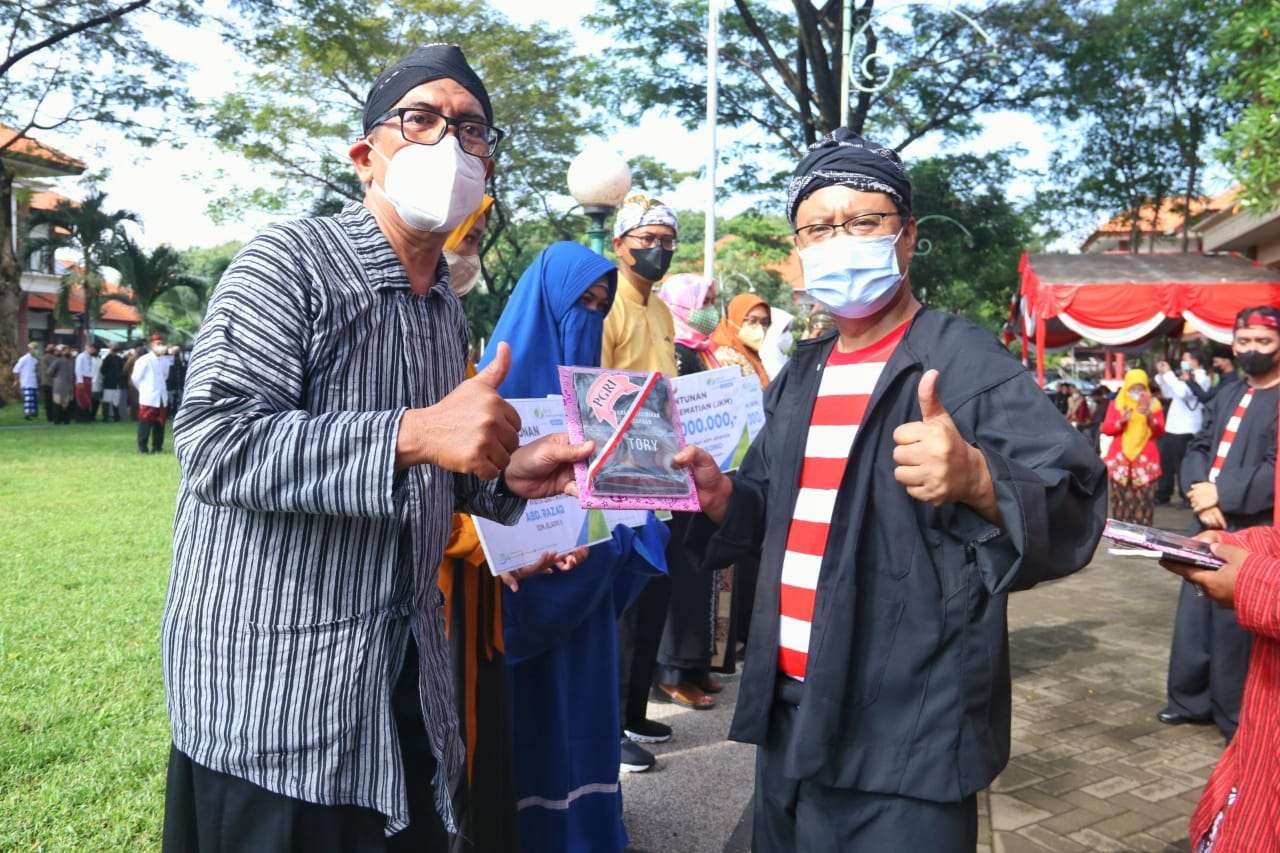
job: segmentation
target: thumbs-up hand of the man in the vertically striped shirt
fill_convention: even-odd
[[[493,480],[520,446],[520,415],[498,394],[511,369],[511,347],[498,345],[493,362],[426,409],[401,420],[396,467],[435,465]]]

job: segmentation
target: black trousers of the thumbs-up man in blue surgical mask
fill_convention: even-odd
[[[934,803],[797,781],[782,775],[795,706],[777,702],[755,758],[754,853],[973,853],[978,800]]]

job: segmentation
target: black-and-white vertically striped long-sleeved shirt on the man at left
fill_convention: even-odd
[[[512,521],[522,502],[394,461],[402,414],[462,380],[466,347],[444,261],[415,295],[361,205],[268,229],[223,275],[174,424],[164,676],[195,762],[403,829],[390,697],[412,634],[453,826],[463,748],[435,571],[454,508]]]

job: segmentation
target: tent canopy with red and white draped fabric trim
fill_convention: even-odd
[[[1280,306],[1280,272],[1226,255],[1023,255],[1016,323],[1036,350],[1044,383],[1044,352],[1082,338],[1133,346],[1189,325],[1231,342],[1240,309]]]

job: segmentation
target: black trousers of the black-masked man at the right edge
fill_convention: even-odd
[[[1235,611],[1197,596],[1183,581],[1169,652],[1169,708],[1197,720],[1212,720],[1229,740],[1240,725],[1240,699],[1253,635],[1235,621]]]

